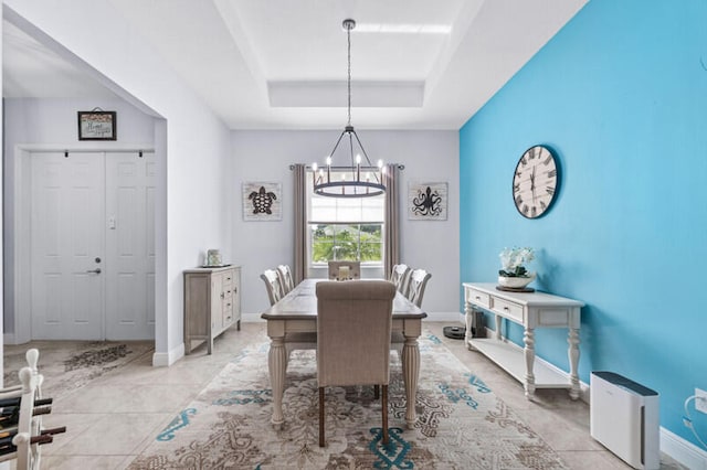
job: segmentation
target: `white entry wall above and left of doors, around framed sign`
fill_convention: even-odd
[[[117,113],[117,141],[78,141],[76,111],[99,107]],[[4,333],[14,333],[14,148],[43,146],[48,149],[154,148],[155,118],[123,99],[4,99]]]

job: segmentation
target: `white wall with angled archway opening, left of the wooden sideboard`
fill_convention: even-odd
[[[122,98],[163,118],[155,132],[161,180],[152,362],[171,364],[183,355],[182,270],[200,264],[205,248],[231,245],[229,130],[109,2],[3,3],[15,25]]]

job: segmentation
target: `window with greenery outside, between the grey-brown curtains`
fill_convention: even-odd
[[[384,195],[340,199],[317,195],[312,177],[307,178],[307,194],[312,265],[337,260],[382,265]]]

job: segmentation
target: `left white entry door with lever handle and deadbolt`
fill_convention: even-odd
[[[31,159],[32,339],[101,340],[104,154]]]

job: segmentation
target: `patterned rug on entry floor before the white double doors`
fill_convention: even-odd
[[[42,395],[59,398],[105,373],[154,351],[151,341],[34,341],[4,346],[4,386],[20,383],[18,372],[27,366],[25,353],[40,352],[38,368],[44,375]]]

